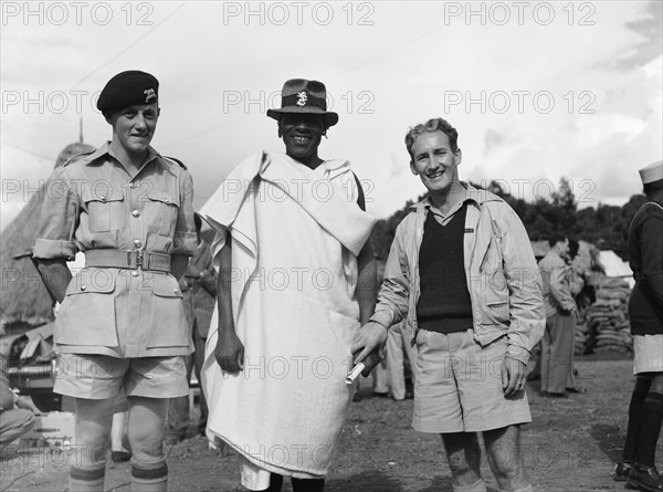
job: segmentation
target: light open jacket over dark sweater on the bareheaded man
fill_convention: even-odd
[[[485,346],[506,334],[507,356],[526,364],[546,325],[540,278],[529,238],[504,200],[462,185],[467,189],[463,254],[474,338]],[[413,341],[418,333],[419,248],[428,213],[424,199],[410,207],[397,228],[371,317],[387,328],[406,317]]]

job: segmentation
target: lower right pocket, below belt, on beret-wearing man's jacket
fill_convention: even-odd
[[[151,305],[151,324],[146,347],[188,347],[191,329],[185,315],[182,292],[172,275],[154,276]]]

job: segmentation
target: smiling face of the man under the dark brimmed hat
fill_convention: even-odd
[[[315,167],[322,161],[317,156],[317,148],[324,132],[323,115],[286,113],[281,117],[278,134],[285,144],[285,153],[308,167]]]

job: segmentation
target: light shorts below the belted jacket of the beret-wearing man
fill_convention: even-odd
[[[99,400],[127,397],[176,398],[189,394],[182,356],[117,358],[94,354],[60,354],[53,391]]]

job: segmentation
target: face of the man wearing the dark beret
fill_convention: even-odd
[[[113,142],[133,156],[144,155],[147,151],[155,136],[158,119],[157,103],[128,106],[106,117],[113,126]]]

